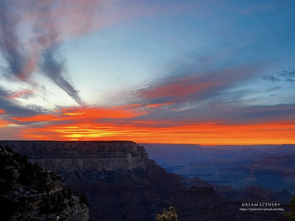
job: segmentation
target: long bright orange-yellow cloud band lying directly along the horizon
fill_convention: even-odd
[[[163,123],[163,122],[162,122]],[[27,128],[19,135],[27,139],[132,140],[142,143],[174,144],[283,144],[294,143],[295,121],[247,125],[223,122],[160,124],[158,122],[92,123]]]

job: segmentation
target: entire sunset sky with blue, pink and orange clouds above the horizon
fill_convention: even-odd
[[[294,8],[0,0],[0,139],[294,144]]]

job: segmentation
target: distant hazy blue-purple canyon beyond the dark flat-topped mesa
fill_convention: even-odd
[[[216,188],[239,189],[237,192],[256,185],[275,192],[284,189],[289,196],[295,194],[294,144],[206,148],[196,144],[142,145],[147,146],[150,158],[158,165],[187,179],[199,177]]]

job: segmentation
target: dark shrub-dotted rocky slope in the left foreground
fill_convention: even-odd
[[[60,175],[0,146],[1,220],[54,221],[59,217],[60,221],[87,221],[86,198],[63,189],[63,184]]]

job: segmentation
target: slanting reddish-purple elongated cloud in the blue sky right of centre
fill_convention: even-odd
[[[258,67],[255,66],[239,66],[209,72],[180,72],[132,91],[132,94],[142,99],[196,102],[209,99],[239,82],[251,79],[256,70]]]

